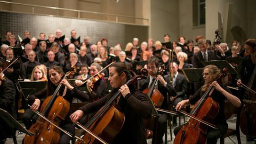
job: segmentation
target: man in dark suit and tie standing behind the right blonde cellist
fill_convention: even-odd
[[[203,68],[203,61],[211,61],[216,59],[225,60],[225,53],[219,45],[215,45],[215,50],[218,50],[221,53],[221,57],[214,55],[213,50],[207,50],[206,40],[204,38],[198,39],[197,43],[200,51],[193,55],[193,66],[195,68]]]

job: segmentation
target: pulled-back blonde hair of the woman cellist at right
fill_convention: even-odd
[[[215,65],[208,65],[204,67],[204,70],[208,68],[209,69],[209,75],[210,75],[210,83],[205,83],[202,87],[202,91],[205,92],[211,85],[211,83],[220,76],[220,69]],[[214,76],[215,75],[215,76]]]

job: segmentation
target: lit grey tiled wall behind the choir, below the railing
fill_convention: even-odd
[[[133,37],[138,37],[140,42],[148,39],[148,26],[128,25],[114,22],[103,22],[96,20],[71,19],[61,17],[50,17],[45,15],[0,12],[0,30],[2,40],[5,38],[6,30],[12,31],[22,38],[25,30],[30,31],[30,37],[39,37],[39,33],[55,35],[56,29],[62,30],[62,35],[70,38],[70,31],[75,29],[77,37],[90,37],[90,42],[95,43],[102,37],[108,38],[109,46],[120,43],[124,49],[126,43],[132,42]]]

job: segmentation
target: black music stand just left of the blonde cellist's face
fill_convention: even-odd
[[[187,78],[187,81],[190,83],[198,83],[198,82],[203,82],[203,68],[185,68],[181,69],[183,71],[183,74]]]

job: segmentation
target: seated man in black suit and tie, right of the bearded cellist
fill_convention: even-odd
[[[182,100],[187,99],[187,86],[188,81],[185,76],[178,73],[179,66],[175,62],[170,63],[170,71],[172,73],[172,85],[176,91],[176,95],[171,97],[172,104],[177,105]],[[169,79],[170,74],[164,76],[164,78]],[[177,126],[177,116],[173,116],[173,126]]]

